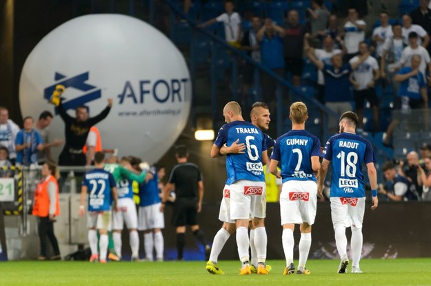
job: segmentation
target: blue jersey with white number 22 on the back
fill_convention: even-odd
[[[82,186],[88,188],[88,210],[99,212],[110,210],[112,188],[115,180],[111,173],[101,168],[89,170],[83,175]]]

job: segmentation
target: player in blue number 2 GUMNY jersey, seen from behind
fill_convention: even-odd
[[[271,155],[270,172],[281,173],[283,188],[280,195],[281,225],[283,225],[283,250],[286,260],[283,275],[294,274],[293,263],[294,225],[300,224],[299,265],[297,274],[310,274],[305,269],[311,246],[311,225],[316,217],[317,184],[319,172],[320,140],[305,131],[308,119],[303,102],[290,106],[292,131],[277,138]],[[281,171],[277,165],[281,162]]]

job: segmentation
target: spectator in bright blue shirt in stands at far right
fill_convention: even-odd
[[[416,42],[414,41],[414,43]],[[411,65],[402,67],[394,78],[400,83],[398,96],[395,100],[395,109],[401,109],[401,114],[403,115],[410,114],[411,109],[428,107],[425,77],[420,71],[421,56],[414,54],[410,61]],[[392,118],[386,134],[383,136],[383,144],[385,146],[390,146],[392,133],[398,124],[399,119]]]

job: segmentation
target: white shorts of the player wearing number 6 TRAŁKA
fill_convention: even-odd
[[[256,211],[254,196],[266,197],[266,185],[264,181],[248,181],[241,179],[230,185],[230,219],[249,219],[256,214],[265,215],[266,209]],[[266,201],[265,201],[266,202]],[[266,203],[265,203],[266,206]],[[262,204],[258,208],[262,208]]]

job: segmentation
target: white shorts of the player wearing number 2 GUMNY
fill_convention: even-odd
[[[317,184],[315,181],[286,181],[280,194],[281,225],[308,223],[316,218]]]

